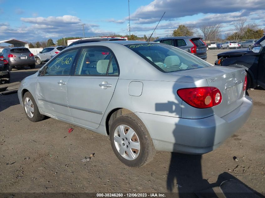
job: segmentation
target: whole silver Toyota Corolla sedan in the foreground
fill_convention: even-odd
[[[155,150],[216,149],[252,111],[245,88],[244,69],[163,43],[107,41],[66,48],[22,80],[18,97],[30,121],[46,115],[108,135],[120,161],[141,166]]]

